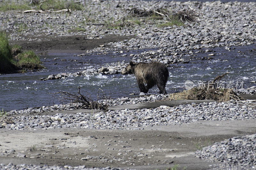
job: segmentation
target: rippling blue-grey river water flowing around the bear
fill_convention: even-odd
[[[214,48],[213,52],[196,53],[196,58],[184,56],[191,59],[188,64],[177,64],[169,67],[170,77],[166,85],[168,93],[177,92],[185,87],[185,81],[190,80],[195,84],[200,81],[213,79],[225,72],[230,72],[222,80],[225,82],[243,82],[243,87],[255,85],[251,81],[256,80],[256,45],[234,47],[232,50],[224,48]],[[133,51],[140,53],[142,51]],[[214,53],[212,60],[200,60]],[[42,61],[47,69],[25,74],[5,74],[0,75],[0,109],[6,111],[13,109],[24,109],[27,107],[38,107],[52,105],[49,93],[67,91],[77,92],[77,87],[88,92],[92,99],[97,98],[98,89],[102,89],[106,96],[112,98],[129,97],[130,93],[139,93],[136,79],[132,75],[95,75],[68,77],[60,80],[40,81],[39,78],[47,77],[60,72],[76,72],[88,68],[98,68],[104,63],[129,61],[128,57],[113,57],[116,55],[91,55],[73,56],[73,54],[47,54],[41,55]],[[47,59],[44,60],[44,58]],[[53,58],[59,57],[60,60]],[[54,63],[57,63],[54,65]],[[158,93],[158,88],[154,87],[149,93]],[[101,93],[102,94],[102,93]],[[58,104],[58,103],[55,103]]]

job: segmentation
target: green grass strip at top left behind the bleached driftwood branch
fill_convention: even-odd
[[[30,1],[22,1],[22,2],[15,2],[12,0],[3,0],[0,5],[0,11],[10,11],[10,10],[40,10],[39,5],[40,4],[29,4]],[[81,11],[84,9],[82,4],[77,4],[70,1],[64,1],[64,0],[48,0],[43,1],[42,8],[44,10],[62,10],[62,9],[71,9],[71,10],[77,10]]]

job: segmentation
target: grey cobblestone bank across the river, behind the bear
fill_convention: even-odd
[[[1,12],[0,28],[10,32],[12,42],[27,41],[28,46],[38,41],[51,41],[51,37],[59,36],[84,35],[85,39],[101,39],[109,34],[136,36],[136,38],[119,42],[101,44],[98,48],[87,50],[83,55],[106,54],[124,48],[160,48],[157,51],[134,55],[132,60],[136,62],[160,61],[167,66],[179,62],[187,63],[188,61],[184,60],[182,56],[185,54],[193,55],[198,49],[214,47],[229,49],[231,46],[247,45],[256,40],[255,2],[77,2],[83,4],[84,10],[72,11],[72,14]],[[133,22],[138,20],[139,24],[119,27],[119,29],[112,28],[115,26],[115,20],[120,19],[122,13],[128,13],[132,7],[168,9],[172,13],[191,7],[199,14],[199,17],[197,22],[185,22],[182,26],[161,26],[161,24],[170,23],[170,21],[150,17],[133,17],[131,20]],[[206,49],[205,51],[210,50]],[[102,66],[102,68],[93,68],[77,73],[56,73],[57,75],[50,75],[42,79],[59,79],[67,76],[97,73],[116,74],[120,73],[120,70],[126,65],[127,63],[110,63],[108,67]]]

